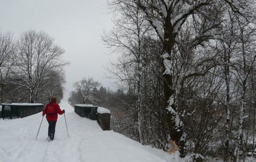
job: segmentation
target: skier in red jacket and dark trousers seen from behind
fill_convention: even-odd
[[[43,116],[46,115],[46,119],[49,123],[48,127],[48,138],[49,141],[52,141],[54,139],[55,134],[55,126],[58,119],[58,114],[62,115],[65,113],[65,110],[61,110],[59,104],[56,103],[57,98],[52,97],[51,102],[46,104],[45,109],[43,109]]]

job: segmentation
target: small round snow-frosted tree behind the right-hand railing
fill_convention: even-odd
[[[82,101],[84,104],[86,104],[87,101],[93,102],[95,100],[95,97],[93,96],[93,89],[99,86],[100,83],[98,81],[94,81],[93,78],[84,78],[73,83],[73,87],[76,89],[76,92],[82,95]]]

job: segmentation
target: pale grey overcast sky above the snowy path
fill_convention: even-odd
[[[0,0],[0,29],[12,31],[17,38],[27,29],[43,30],[65,49],[66,93],[72,83],[83,77],[93,77],[105,87],[104,65],[110,59],[100,42],[103,30],[110,29],[111,14],[106,14],[106,0]]]

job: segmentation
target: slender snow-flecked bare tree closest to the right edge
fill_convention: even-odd
[[[241,49],[237,55],[238,64],[236,66],[236,78],[240,84],[241,105],[239,109],[239,124],[236,134],[236,143],[234,149],[234,161],[238,162],[239,150],[245,152],[243,141],[244,120],[248,117],[244,114],[246,109],[245,97],[248,87],[248,78],[254,69],[256,62],[256,46],[255,46],[255,24],[239,22],[239,48]]]

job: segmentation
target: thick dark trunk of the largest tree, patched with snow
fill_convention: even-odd
[[[165,39],[163,42],[164,45],[164,54],[163,58],[163,77],[164,77],[164,107],[167,108],[167,124],[169,127],[170,140],[178,146],[180,152],[180,157],[184,158],[186,155],[185,140],[186,134],[184,133],[183,123],[180,120],[180,116],[177,112],[178,105],[176,104],[176,94],[174,89],[174,72],[172,69],[172,60],[173,56],[172,48],[174,47],[175,36],[170,35],[172,33],[171,26],[167,26],[169,32],[165,32]],[[167,31],[167,30],[165,30]]]

